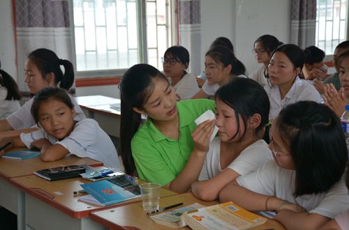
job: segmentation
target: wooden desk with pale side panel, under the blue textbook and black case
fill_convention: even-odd
[[[25,193],[25,213],[27,225],[34,229],[104,229],[91,221],[89,214],[101,210],[97,206],[78,201],[73,192],[81,190],[80,184],[89,183],[81,178],[61,181],[46,181],[35,175],[22,176],[10,180]],[[136,180],[136,183],[144,183]],[[161,196],[177,194],[170,190],[161,190]],[[122,206],[139,202],[140,198],[115,204],[110,207]]]

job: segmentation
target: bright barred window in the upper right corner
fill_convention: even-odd
[[[333,54],[336,46],[347,39],[347,0],[316,1],[315,46]]]

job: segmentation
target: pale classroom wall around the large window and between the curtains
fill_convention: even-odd
[[[12,0],[0,2],[0,60],[8,72],[17,77]],[[212,41],[225,36],[232,40],[235,54],[248,72],[258,68],[251,52],[258,36],[270,33],[288,43],[290,38],[290,0],[201,0],[201,63]],[[6,42],[3,42],[6,41]],[[6,66],[6,67],[5,67]],[[22,80],[22,72],[17,79]],[[119,98],[113,86],[77,88],[77,95],[107,95]]]

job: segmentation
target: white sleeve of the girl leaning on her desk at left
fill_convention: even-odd
[[[57,141],[56,144],[64,146],[69,153],[73,153],[80,158],[87,158],[87,147],[93,145],[97,139],[96,125],[93,121],[91,119],[84,119],[76,123],[70,135],[61,141]]]

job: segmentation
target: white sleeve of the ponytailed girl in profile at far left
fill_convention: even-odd
[[[8,116],[6,120],[14,130],[20,130],[24,128],[31,128],[35,125],[33,116],[31,116],[31,105],[33,105],[34,98],[25,102],[24,105],[15,112],[14,114]]]

